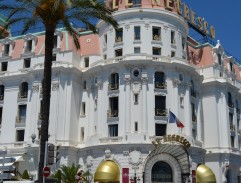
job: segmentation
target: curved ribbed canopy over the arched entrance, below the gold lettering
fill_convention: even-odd
[[[186,148],[183,145],[179,144],[160,144],[155,150],[153,150],[149,157],[147,158],[147,161],[149,158],[161,154],[166,153],[172,155],[179,163],[181,167],[182,173],[190,173],[189,171],[189,156]]]

